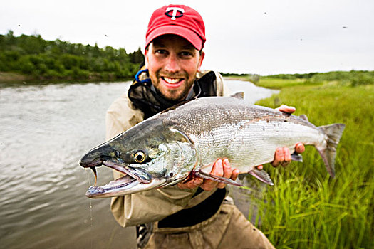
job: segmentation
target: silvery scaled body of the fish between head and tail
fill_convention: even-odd
[[[244,173],[271,162],[278,147],[289,147],[293,152],[298,142],[321,146],[326,139],[305,120],[266,107],[249,106],[234,97],[200,98],[165,112],[160,118],[179,123],[189,134],[207,173],[217,158],[228,158]]]

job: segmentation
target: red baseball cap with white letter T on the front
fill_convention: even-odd
[[[202,17],[185,5],[171,4],[153,12],[145,34],[145,48],[153,39],[166,34],[182,36],[197,50],[201,50],[206,41]]]

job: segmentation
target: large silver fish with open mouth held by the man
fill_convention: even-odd
[[[223,158],[241,174],[273,184],[266,171],[256,166],[273,161],[278,147],[294,152],[298,142],[313,144],[333,177],[344,127],[316,127],[306,117],[249,105],[242,94],[199,98],[160,112],[85,154],[80,165],[93,169],[95,185],[97,166],[124,174],[105,186],[90,186],[86,196],[133,194],[172,186],[191,175],[237,184],[209,174],[214,161]]]

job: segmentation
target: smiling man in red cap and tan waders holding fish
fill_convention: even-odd
[[[107,139],[182,101],[228,95],[218,73],[200,71],[204,42],[204,22],[197,11],[182,5],[157,9],[146,33],[145,66],[127,95],[107,112]],[[303,144],[296,146],[298,153],[303,149]],[[274,158],[274,166],[286,166],[291,154],[279,148]],[[235,180],[239,171],[227,159],[218,159],[211,174]],[[226,197],[224,184],[195,178],[115,197],[111,210],[121,226],[137,226],[138,248],[274,248]]]

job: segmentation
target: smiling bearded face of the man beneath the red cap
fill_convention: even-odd
[[[180,101],[187,97],[202,65],[201,54],[181,36],[155,38],[145,51],[145,63],[150,79],[167,100]]]

